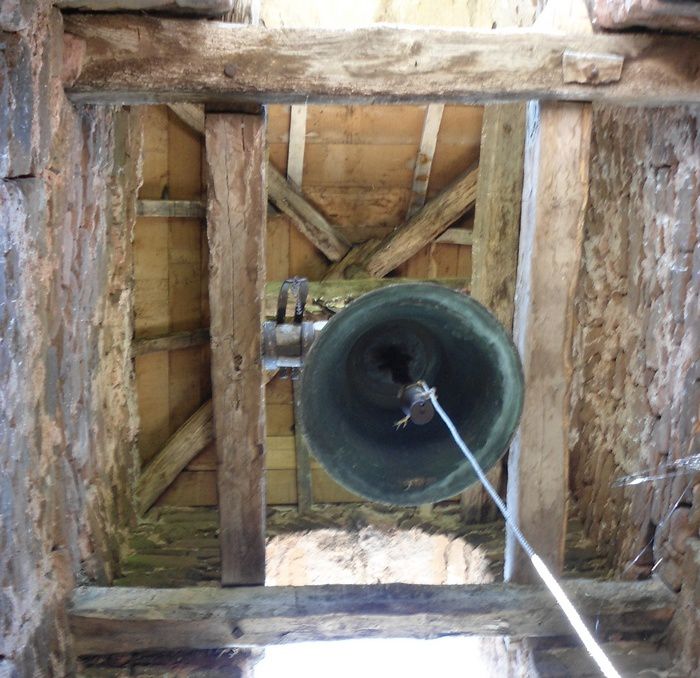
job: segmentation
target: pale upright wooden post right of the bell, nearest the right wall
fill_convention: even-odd
[[[508,508],[555,571],[564,560],[573,295],[588,199],[589,104],[530,102],[514,338],[525,406],[508,461]],[[505,577],[530,582],[529,559],[506,537]]]

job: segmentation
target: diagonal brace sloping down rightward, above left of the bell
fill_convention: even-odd
[[[275,207],[331,261],[342,259],[350,245],[335,227],[272,165],[268,168],[267,181],[269,198]]]

